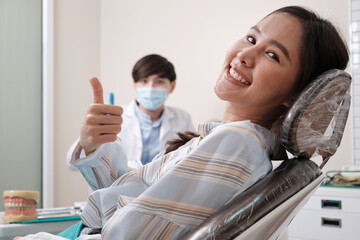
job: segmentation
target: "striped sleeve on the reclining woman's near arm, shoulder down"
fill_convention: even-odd
[[[271,170],[267,149],[256,132],[224,126],[209,134],[190,153],[188,148],[180,148],[165,155],[160,159],[159,169],[152,171],[149,178],[147,166],[151,164],[144,166],[134,177],[148,179],[142,182],[149,186],[144,185],[132,200],[117,195],[117,210],[102,222],[103,239],[185,236]],[[114,192],[110,189],[107,194]],[[108,210],[108,203],[103,201],[106,196],[97,194],[91,200],[91,208],[104,213]]]

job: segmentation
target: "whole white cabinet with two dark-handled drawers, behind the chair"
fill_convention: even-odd
[[[288,227],[289,240],[360,240],[360,188],[319,187]]]

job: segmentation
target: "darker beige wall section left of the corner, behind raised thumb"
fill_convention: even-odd
[[[54,205],[71,206],[89,192],[81,174],[66,168],[65,155],[91,103],[88,79],[100,72],[100,1],[54,3]]]

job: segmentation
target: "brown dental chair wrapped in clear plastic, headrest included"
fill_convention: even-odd
[[[281,141],[293,158],[195,228],[186,240],[278,239],[325,178],[322,167],[336,152],[350,108],[351,77],[341,70],[320,75],[287,113]],[[310,158],[320,155],[318,166]]]

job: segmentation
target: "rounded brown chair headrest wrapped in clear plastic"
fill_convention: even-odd
[[[319,75],[287,113],[280,137],[295,157],[332,156],[344,132],[350,108],[351,76],[338,69]]]

